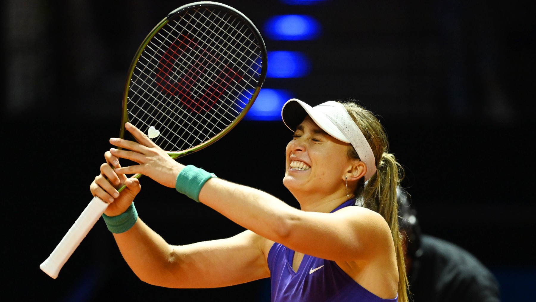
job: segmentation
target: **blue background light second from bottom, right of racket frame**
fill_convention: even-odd
[[[300,78],[310,71],[308,58],[299,51],[268,51],[269,78]]]

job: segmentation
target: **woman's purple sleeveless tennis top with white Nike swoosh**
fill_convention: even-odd
[[[349,200],[331,212],[354,205]],[[364,289],[346,274],[335,261],[304,255],[298,271],[292,269],[294,251],[275,243],[268,253],[272,282],[272,302],[397,302],[382,299]]]

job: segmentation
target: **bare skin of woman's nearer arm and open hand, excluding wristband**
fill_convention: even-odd
[[[111,144],[130,150],[111,149],[110,152],[139,165],[116,168],[116,172],[142,173],[161,185],[175,187],[184,165],[171,159],[132,124],[127,123],[125,128],[139,144],[110,139]],[[329,214],[301,211],[263,191],[219,178],[205,183],[199,201],[266,239],[323,259],[366,260],[385,251],[385,245],[392,245],[391,232],[383,217],[361,207],[347,207]]]

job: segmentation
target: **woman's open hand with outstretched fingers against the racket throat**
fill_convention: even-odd
[[[126,158],[135,161],[139,165],[117,167],[117,174],[144,174],[166,187],[174,188],[178,173],[184,167],[169,157],[166,151],[153,143],[142,131],[131,123],[125,124],[128,130],[139,143],[126,141],[121,138],[110,138],[112,145],[128,149],[110,149],[111,155],[117,158]]]

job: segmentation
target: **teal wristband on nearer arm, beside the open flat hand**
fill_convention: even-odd
[[[196,166],[185,166],[177,175],[175,189],[193,200],[199,202],[199,192],[205,182],[213,177],[218,177],[214,173],[209,173]]]

